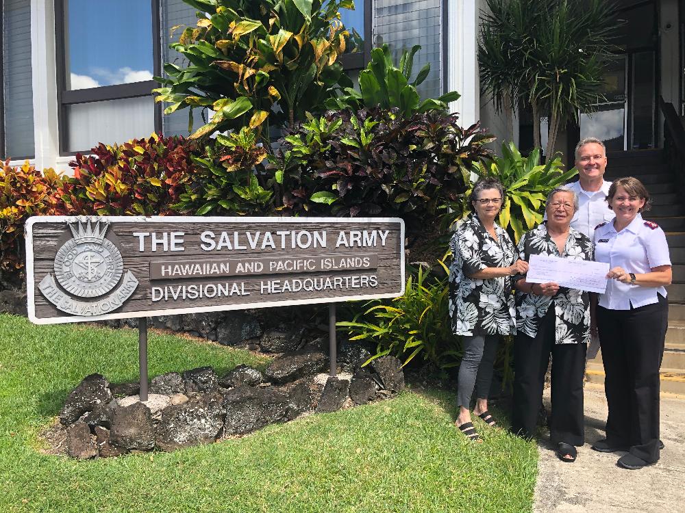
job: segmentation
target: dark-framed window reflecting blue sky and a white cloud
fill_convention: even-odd
[[[158,1],[55,0],[60,153],[160,129]]]

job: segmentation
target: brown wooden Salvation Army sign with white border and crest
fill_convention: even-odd
[[[395,298],[397,218],[29,218],[36,324]]]

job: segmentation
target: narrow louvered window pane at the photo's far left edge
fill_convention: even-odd
[[[33,157],[30,3],[25,0],[5,0],[3,24],[5,155],[2,157]]]

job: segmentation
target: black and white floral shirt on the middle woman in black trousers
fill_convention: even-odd
[[[530,255],[564,257],[575,260],[593,260],[594,246],[586,235],[571,228],[566,239],[564,254],[559,254],[556,243],[549,237],[546,224],[523,234],[519,241],[519,258],[529,261]],[[514,279],[525,278],[516,275]],[[587,292],[559,287],[553,295],[536,295],[516,291],[516,329],[535,337],[540,319],[554,303],[556,313],[556,343],[584,343],[590,341],[590,297]]]

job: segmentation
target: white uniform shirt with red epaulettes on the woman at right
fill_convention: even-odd
[[[614,223],[608,222],[595,229],[595,261],[606,262],[609,268],[622,267],[625,272],[643,274],[652,267],[671,265],[666,234],[651,221],[638,214],[632,222],[616,232]],[[599,306],[610,310],[630,310],[659,301],[658,294],[666,297],[665,287],[642,287],[618,280],[607,280],[606,292],[599,294]]]

